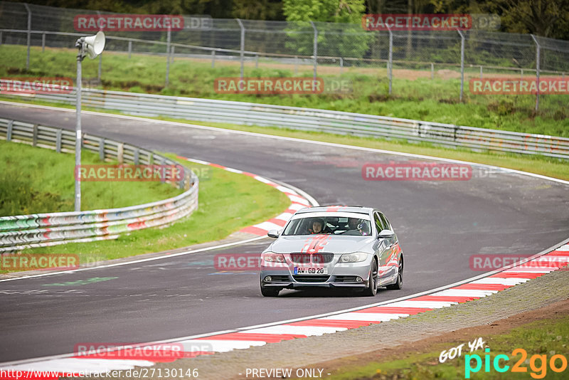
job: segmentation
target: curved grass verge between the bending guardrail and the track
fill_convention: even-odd
[[[174,154],[166,156],[176,159]],[[91,263],[181,248],[225,238],[245,226],[277,216],[290,204],[285,194],[249,176],[176,160],[204,176],[200,181],[198,210],[188,218],[167,228],[132,231],[112,241],[68,243],[23,253],[75,253],[80,263]]]

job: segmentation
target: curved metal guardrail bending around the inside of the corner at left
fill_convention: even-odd
[[[0,119],[0,139],[57,152],[75,152],[75,133],[16,120]],[[179,165],[146,149],[103,137],[83,134],[82,142],[85,149],[97,152],[102,160],[115,159],[121,164]],[[170,182],[168,177],[164,181]],[[198,207],[198,177],[191,170],[184,169],[183,178],[171,183],[184,189],[184,193],[163,201],[121,209],[0,217],[0,254],[25,248],[112,239],[119,233],[162,226],[184,218]]]

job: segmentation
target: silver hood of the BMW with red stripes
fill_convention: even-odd
[[[267,250],[275,253],[298,253],[306,252],[307,248],[314,245],[322,246],[321,253],[352,253],[358,250],[364,250],[371,246],[375,240],[371,236],[332,236],[319,235],[316,236],[280,236],[273,242]],[[366,249],[365,251],[368,251]]]

